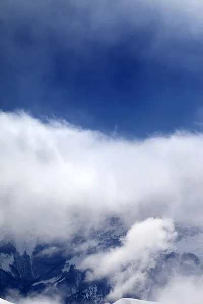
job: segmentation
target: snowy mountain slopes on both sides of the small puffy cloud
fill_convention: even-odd
[[[177,225],[176,230],[174,250],[156,257],[155,267],[147,270],[149,280],[145,290],[136,290],[136,294],[125,297],[153,299],[155,287],[164,286],[175,272],[203,274],[202,230],[182,225]],[[86,271],[80,269],[80,264],[91,253],[120,246],[120,237],[125,233],[125,226],[119,219],[109,219],[99,229],[92,229],[88,239],[78,235],[68,243],[45,243],[31,236],[24,240],[5,236],[0,241],[0,297],[15,302],[21,296],[51,296],[62,292],[66,304],[104,304],[110,292],[108,280],[86,282]],[[145,303],[123,301],[117,304]]]

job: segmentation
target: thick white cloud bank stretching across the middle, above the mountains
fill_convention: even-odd
[[[0,115],[1,229],[68,237],[107,216],[201,223],[202,134],[128,141]]]

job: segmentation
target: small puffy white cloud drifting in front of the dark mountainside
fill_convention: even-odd
[[[122,246],[88,256],[83,269],[91,269],[87,280],[108,277],[112,290],[108,299],[117,300],[127,292],[144,289],[147,270],[154,267],[154,257],[172,248],[176,233],[171,220],[149,218],[135,223],[122,240]]]

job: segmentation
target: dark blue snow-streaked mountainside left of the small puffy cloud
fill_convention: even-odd
[[[45,243],[31,236],[22,240],[6,235],[0,240],[0,297],[15,301],[20,296],[51,296],[62,291],[66,303],[104,303],[110,291],[107,280],[85,282],[86,272],[79,265],[98,249],[119,246],[122,235],[125,227],[119,219],[92,229],[88,239],[78,234],[69,242]]]

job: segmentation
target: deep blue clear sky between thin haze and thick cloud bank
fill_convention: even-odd
[[[48,15],[42,14],[46,5],[28,11],[20,3],[20,9],[12,1],[0,4],[1,109],[61,116],[107,132],[116,126],[118,132],[142,137],[199,128],[203,103],[199,37],[172,34],[165,39],[163,31],[161,46],[154,51],[163,27],[157,13],[142,27],[127,18],[113,25],[105,19],[104,28],[87,35],[91,14],[73,9],[71,1],[63,10],[59,0],[60,9],[53,6]],[[57,14],[61,8],[62,17]],[[60,18],[65,25],[58,26]],[[81,18],[84,30],[76,30],[74,22]],[[110,39],[104,39],[108,31]]]

